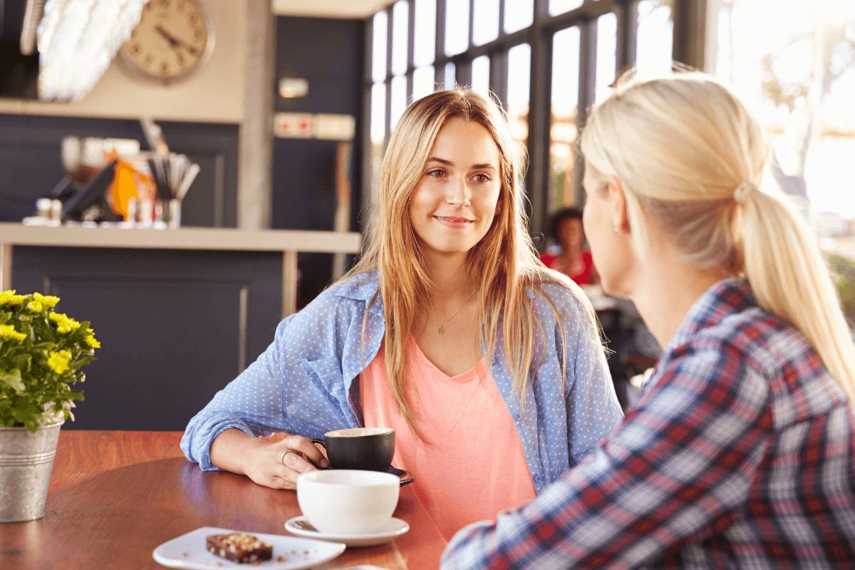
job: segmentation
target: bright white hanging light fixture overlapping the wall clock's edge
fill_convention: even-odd
[[[44,3],[37,28],[38,97],[80,101],[131,37],[148,0],[28,0],[27,13],[29,3]]]

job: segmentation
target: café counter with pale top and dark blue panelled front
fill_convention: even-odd
[[[63,429],[175,431],[296,311],[298,252],[359,247],[355,232],[0,223],[0,286],[60,297],[102,345]]]

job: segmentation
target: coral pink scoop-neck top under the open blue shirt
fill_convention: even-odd
[[[450,539],[463,526],[533,499],[522,443],[485,359],[450,377],[413,338],[410,350],[418,397],[407,397],[426,441],[398,413],[383,345],[359,379],[363,416],[366,427],[395,430],[392,465],[416,475],[413,491],[439,531]]]

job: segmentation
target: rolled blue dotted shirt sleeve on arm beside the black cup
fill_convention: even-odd
[[[341,362],[345,356],[359,358],[345,355],[343,339],[355,322],[362,322],[351,313],[363,307],[339,303],[327,290],[282,320],[268,349],[192,418],[180,444],[187,459],[216,469],[210,463],[210,444],[230,427],[252,436],[291,432],[320,437],[358,426]]]

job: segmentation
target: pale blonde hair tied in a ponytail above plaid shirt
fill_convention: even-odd
[[[704,73],[622,79],[581,149],[594,173],[621,181],[636,239],[649,218],[694,267],[745,275],[855,402],[855,344],[828,267],[792,205],[760,190],[769,143],[728,88]]]

